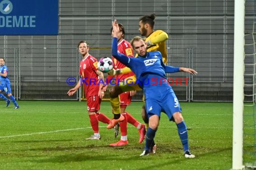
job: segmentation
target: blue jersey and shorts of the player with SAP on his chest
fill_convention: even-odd
[[[163,111],[170,120],[173,120],[172,114],[181,112],[178,99],[165,76],[165,72],[178,72],[179,68],[163,64],[162,55],[159,51],[147,52],[147,55],[143,57],[127,57],[117,52],[117,38],[113,38],[112,55],[131,68],[137,76],[137,80],[141,82],[148,117],[151,115],[159,115],[160,117],[161,111]],[[150,80],[150,82],[145,83],[145,80]]]

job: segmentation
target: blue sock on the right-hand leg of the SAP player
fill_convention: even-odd
[[[184,152],[190,151],[189,149],[189,140],[188,140],[188,131],[184,121],[176,124],[178,127],[178,133],[181,139],[181,143],[183,145]]]

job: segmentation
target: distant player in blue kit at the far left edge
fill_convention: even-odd
[[[20,106],[16,102],[15,98],[12,95],[12,90],[11,90],[11,83],[8,78],[8,68],[6,65],[4,65],[4,58],[0,58],[0,98],[4,99],[6,101],[6,107],[9,106],[10,102],[12,101],[14,104],[14,109],[18,109]],[[4,91],[10,100],[4,96],[1,92]]]

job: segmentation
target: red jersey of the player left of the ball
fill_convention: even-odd
[[[80,61],[79,74],[84,82],[84,94],[86,97],[98,95],[100,85],[98,85],[99,77],[96,73],[98,70],[98,62],[92,55],[88,55]]]

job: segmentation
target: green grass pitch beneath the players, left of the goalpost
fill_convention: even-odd
[[[194,159],[185,159],[175,123],[162,113],[155,136],[155,154],[139,157],[145,141],[128,124],[129,144],[110,147],[120,139],[99,123],[102,140],[85,140],[93,134],[86,102],[18,101],[5,107],[0,101],[1,170],[229,170],[232,168],[232,103],[181,102],[189,129]],[[142,102],[127,111],[141,119]],[[112,117],[110,102],[101,112]]]

